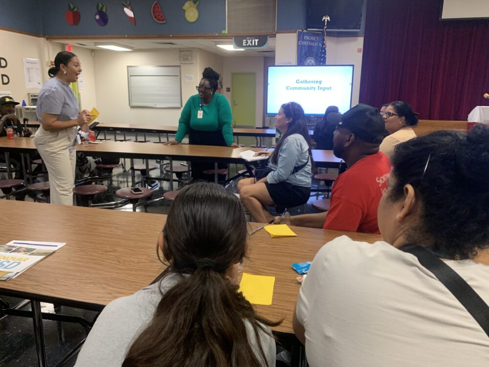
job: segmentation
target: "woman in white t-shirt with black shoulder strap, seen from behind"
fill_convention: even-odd
[[[489,366],[489,128],[410,139],[391,162],[383,240],[335,238],[301,286],[309,366]]]

